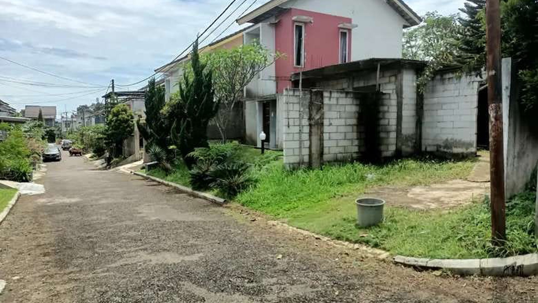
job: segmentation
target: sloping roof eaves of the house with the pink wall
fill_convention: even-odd
[[[258,8],[246,13],[246,15],[237,19],[238,24],[259,23],[268,17],[278,15],[283,9],[280,5],[289,0],[271,0]],[[399,15],[404,18],[410,26],[419,25],[422,18],[417,15],[403,0],[385,0]]]

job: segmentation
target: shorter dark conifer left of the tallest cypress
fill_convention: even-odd
[[[166,104],[165,89],[162,86],[155,85],[155,79],[148,82],[148,87],[144,95],[146,105],[145,123],[137,120],[137,127],[140,135],[146,139],[147,147],[157,145],[162,151],[168,149],[170,128],[166,117],[161,113]],[[148,151],[149,149],[146,149]]]

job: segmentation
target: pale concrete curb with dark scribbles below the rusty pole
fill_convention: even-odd
[[[461,276],[527,277],[538,274],[538,253],[508,258],[428,259],[396,256],[394,262],[422,269],[447,269]]]

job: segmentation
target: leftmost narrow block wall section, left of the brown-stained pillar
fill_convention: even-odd
[[[307,166],[310,147],[308,124],[310,91],[285,89],[278,95],[277,102],[282,104],[284,164],[288,168]]]

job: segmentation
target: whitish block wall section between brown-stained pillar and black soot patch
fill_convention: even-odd
[[[323,161],[350,161],[364,151],[360,142],[356,95],[349,91],[323,91]],[[361,148],[362,146],[362,148]]]

